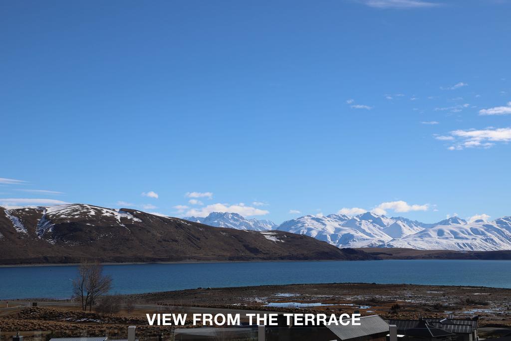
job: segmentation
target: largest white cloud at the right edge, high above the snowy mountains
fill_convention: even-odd
[[[511,142],[511,128],[468,129],[453,130],[450,135],[437,140],[453,141],[449,150],[461,150],[464,148],[490,148],[495,143]]]

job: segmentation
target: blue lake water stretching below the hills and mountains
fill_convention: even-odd
[[[382,260],[105,265],[112,293],[293,283],[407,283],[511,288],[511,261]],[[69,298],[77,266],[0,267],[0,299]]]

